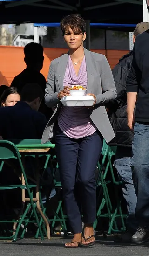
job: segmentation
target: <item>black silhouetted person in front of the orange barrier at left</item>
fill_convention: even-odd
[[[32,86],[32,83],[37,83],[44,93],[47,81],[40,73],[44,61],[42,45],[34,42],[27,44],[24,47],[24,55],[24,62],[27,67],[19,75],[14,77],[11,86],[16,87],[18,92],[21,93],[25,84],[30,83],[30,86]],[[53,113],[52,109],[47,108],[44,101],[42,101],[39,111],[47,118],[50,118]]]

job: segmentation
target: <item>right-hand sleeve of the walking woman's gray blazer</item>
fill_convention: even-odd
[[[102,55],[102,61],[100,62],[100,76],[102,85],[102,94],[96,95],[96,104],[103,104],[109,100],[115,99],[117,96],[115,81],[112,75],[112,71],[108,61],[104,55]]]

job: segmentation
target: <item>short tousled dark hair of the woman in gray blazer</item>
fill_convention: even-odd
[[[70,14],[61,20],[60,27],[63,35],[65,35],[68,26],[73,32],[78,32],[80,34],[86,32],[86,23],[80,14]]]

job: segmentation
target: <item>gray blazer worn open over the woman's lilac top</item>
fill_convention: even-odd
[[[90,118],[108,143],[115,137],[115,134],[109,122],[104,104],[116,98],[115,82],[104,55],[90,52],[85,48],[84,54],[87,68],[88,93],[93,93],[96,96],[95,107],[90,109]],[[43,132],[41,143],[46,143],[54,136],[54,123],[61,109],[61,102],[57,99],[57,94],[63,90],[67,63],[68,53],[54,59],[50,65],[45,90],[45,104],[48,107],[55,106],[56,108]]]

